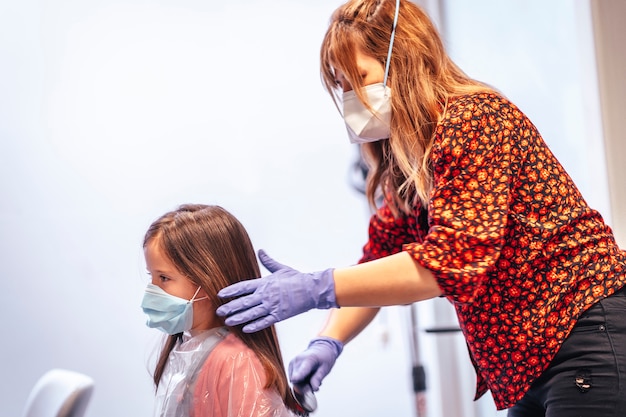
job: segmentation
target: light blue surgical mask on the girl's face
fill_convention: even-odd
[[[193,325],[193,303],[208,297],[196,298],[200,287],[191,300],[176,297],[154,284],[148,284],[141,302],[143,312],[148,315],[146,325],[167,334],[177,334],[191,330]]]

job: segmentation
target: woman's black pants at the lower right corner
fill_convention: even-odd
[[[626,416],[625,290],[580,317],[546,372],[507,416]]]

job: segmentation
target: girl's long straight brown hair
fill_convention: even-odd
[[[248,233],[220,206],[181,205],[150,225],[144,247],[155,239],[179,272],[202,287],[215,308],[226,301],[217,296],[219,290],[261,276]],[[289,409],[302,414],[289,389],[274,326],[256,333],[244,333],[241,326],[229,329],[259,357],[266,375],[265,388],[276,389]],[[179,333],[165,340],[154,371],[156,386],[170,352],[181,338]]]

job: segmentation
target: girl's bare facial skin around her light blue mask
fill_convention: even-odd
[[[200,288],[198,294],[194,297],[198,285],[191,282],[186,276],[182,275],[169,260],[165,253],[158,245],[158,239],[152,239],[144,248],[144,256],[146,258],[146,268],[152,277],[152,284],[160,287],[166,293],[185,300],[194,300],[207,296],[206,292]],[[194,301],[193,303],[193,325],[191,332],[208,330],[221,326],[215,314],[215,308],[212,306],[208,298]]]

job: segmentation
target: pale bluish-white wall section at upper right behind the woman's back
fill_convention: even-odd
[[[446,0],[450,53],[518,104],[610,220],[588,1]]]

